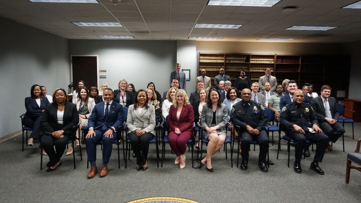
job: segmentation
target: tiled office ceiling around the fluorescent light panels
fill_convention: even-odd
[[[358,0],[282,0],[273,7],[208,6],[208,0],[109,0],[99,4],[32,3],[0,0],[0,16],[67,39],[127,35],[138,40],[186,40],[190,36],[221,41],[345,43],[361,40],[361,9],[342,9]],[[297,10],[283,13],[285,7]],[[120,22],[124,27],[78,27],[71,22]],[[243,25],[239,29],[194,28],[195,23]],[[336,26],[328,31],[284,30],[291,26]],[[134,39],[133,39],[134,40]],[[287,43],[287,42],[285,42]]]

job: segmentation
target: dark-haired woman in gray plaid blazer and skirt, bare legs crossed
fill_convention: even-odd
[[[207,103],[202,109],[200,124],[203,128],[203,137],[209,140],[207,156],[203,157],[200,165],[207,164],[207,170],[213,172],[212,155],[222,148],[227,135],[227,105],[221,103],[220,95],[215,88],[210,89]]]

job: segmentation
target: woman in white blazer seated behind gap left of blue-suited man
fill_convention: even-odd
[[[93,108],[95,107],[95,101],[94,99],[89,97],[89,90],[86,87],[79,88],[79,94],[78,97],[75,98],[74,104],[77,105],[77,110],[79,114],[79,122],[80,122],[80,130],[83,127],[88,126],[88,118],[91,115],[91,112],[93,111]],[[79,132],[77,131],[77,137],[79,137]],[[79,146],[79,141],[76,141],[77,146]],[[73,144],[70,143],[68,152],[66,152],[66,155],[73,154]]]

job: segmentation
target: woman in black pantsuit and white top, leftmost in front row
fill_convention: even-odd
[[[47,172],[61,165],[60,158],[64,154],[66,143],[71,139],[72,128],[78,122],[77,105],[68,102],[64,89],[57,88],[53,93],[53,103],[47,106],[40,120],[40,142],[50,160]]]

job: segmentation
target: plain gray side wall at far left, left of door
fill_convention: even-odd
[[[21,129],[24,99],[34,84],[68,88],[68,40],[0,17],[0,137]]]

